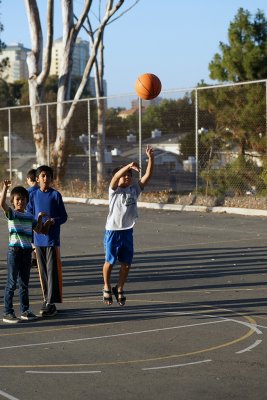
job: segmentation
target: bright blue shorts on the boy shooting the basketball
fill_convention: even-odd
[[[133,228],[122,231],[105,231],[105,260],[114,265],[120,263],[131,265],[133,260]]]

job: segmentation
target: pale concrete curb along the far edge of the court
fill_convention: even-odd
[[[65,203],[80,203],[91,205],[105,205],[108,206],[108,200],[103,199],[89,199],[80,197],[63,197]],[[138,202],[138,207],[150,208],[152,210],[166,210],[166,211],[198,211],[198,212],[213,212],[219,214],[238,214],[253,217],[267,217],[267,210],[258,210],[252,208],[235,208],[235,207],[206,207],[206,206],[189,206],[180,204],[167,204],[167,203],[146,203]]]

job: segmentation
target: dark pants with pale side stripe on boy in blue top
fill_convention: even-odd
[[[62,303],[62,266],[59,247],[35,246],[40,283],[47,303]]]

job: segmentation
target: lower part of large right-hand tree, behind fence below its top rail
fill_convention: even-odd
[[[214,130],[217,135],[231,147],[237,147],[240,154],[248,151],[265,153],[265,84],[255,83],[201,91],[199,107],[209,110],[215,121]]]

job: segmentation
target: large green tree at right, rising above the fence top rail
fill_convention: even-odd
[[[253,19],[240,8],[230,23],[228,39],[229,44],[220,43],[221,53],[209,64],[210,77],[222,82],[266,79],[267,21],[263,12],[258,10]],[[265,84],[199,91],[199,107],[213,116],[213,129],[233,150],[241,155],[252,151],[265,154]]]

